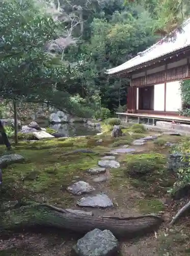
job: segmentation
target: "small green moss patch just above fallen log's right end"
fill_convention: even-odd
[[[144,214],[158,213],[164,211],[165,207],[159,199],[141,199],[138,202],[139,209]]]

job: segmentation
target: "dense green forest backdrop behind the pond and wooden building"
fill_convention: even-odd
[[[187,0],[4,1],[1,95],[80,116],[122,110],[129,81],[108,77],[106,69],[151,46],[189,13]]]

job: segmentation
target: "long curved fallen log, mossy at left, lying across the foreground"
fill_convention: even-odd
[[[87,233],[95,228],[109,229],[116,237],[134,237],[155,230],[162,223],[159,215],[139,217],[91,217],[71,214],[65,209],[51,205],[38,204],[22,206],[7,211],[2,218],[2,230],[29,227],[54,227],[78,233]]]

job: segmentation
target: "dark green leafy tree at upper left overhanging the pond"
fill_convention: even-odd
[[[71,67],[63,61],[65,48],[75,43],[71,37],[73,24],[67,28],[61,22],[63,15],[61,9],[42,1],[1,2],[1,95],[14,100],[48,101],[69,113],[86,115],[88,102],[78,97],[77,91],[72,93],[64,86],[58,90],[68,73],[74,79],[79,72],[76,65]]]

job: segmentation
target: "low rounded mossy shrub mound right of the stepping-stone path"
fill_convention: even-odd
[[[166,164],[166,158],[156,153],[130,155],[127,157],[126,162],[124,174],[135,178],[163,168],[164,164]]]

